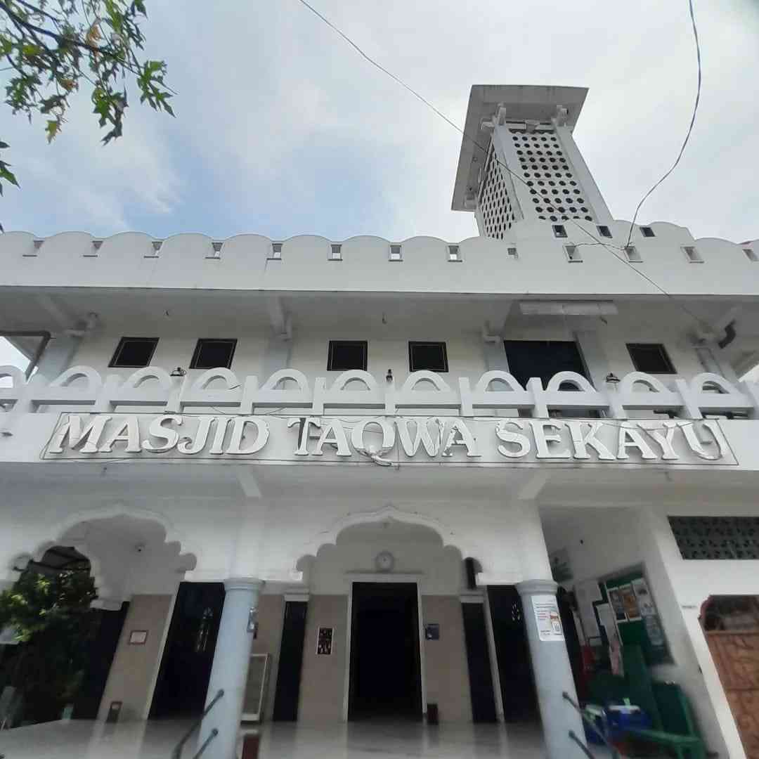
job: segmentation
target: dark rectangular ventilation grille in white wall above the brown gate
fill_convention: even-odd
[[[759,517],[669,517],[683,559],[759,559]]]

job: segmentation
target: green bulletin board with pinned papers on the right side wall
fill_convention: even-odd
[[[622,645],[640,646],[648,666],[671,662],[664,629],[643,569],[610,578],[600,583],[600,590],[603,600],[594,602],[594,606],[611,604]]]

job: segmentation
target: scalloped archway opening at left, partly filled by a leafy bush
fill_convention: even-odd
[[[196,565],[181,543],[167,540],[167,532],[162,521],[146,512],[93,510],[71,515],[52,530],[52,538],[10,562],[8,572],[17,577],[10,595],[23,591],[27,599],[36,598],[46,586],[61,586],[55,592],[76,596],[78,604],[74,615],[72,603],[58,600],[45,618],[58,622],[47,650],[64,647],[64,659],[77,666],[71,672],[62,665],[53,668],[67,682],[58,696],[49,698],[49,707],[35,707],[32,716],[27,708],[25,720],[59,719],[61,703],[74,718],[103,717],[106,701],[121,701],[124,716],[146,716],[172,599],[184,573]],[[138,628],[134,640],[121,635],[128,614],[131,626]],[[42,633],[35,631],[35,638]],[[145,644],[137,670],[132,644]],[[85,657],[79,656],[82,649]],[[28,704],[30,688],[26,690]]]

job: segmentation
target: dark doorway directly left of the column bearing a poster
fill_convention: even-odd
[[[539,719],[521,598],[513,585],[487,588],[506,722]]]

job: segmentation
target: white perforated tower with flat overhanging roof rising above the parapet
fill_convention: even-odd
[[[586,95],[585,87],[472,87],[452,209],[474,212],[480,235],[499,240],[523,219],[609,225],[572,137]]]

